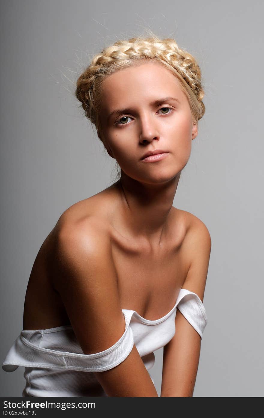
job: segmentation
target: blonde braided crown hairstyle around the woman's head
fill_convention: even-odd
[[[137,37],[120,40],[96,54],[90,65],[79,76],[75,95],[85,110],[86,117],[100,133],[100,100],[102,82],[105,77],[120,69],[140,65],[146,61],[156,61],[164,65],[177,77],[180,87],[186,94],[195,123],[205,113],[202,102],[204,91],[201,85],[201,71],[195,58],[179,48],[174,39]],[[100,138],[100,135],[98,135]],[[101,139],[101,138],[100,138]]]

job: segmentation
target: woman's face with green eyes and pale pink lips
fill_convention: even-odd
[[[108,154],[127,176],[149,184],[177,176],[197,136],[178,79],[153,62],[122,69],[104,80],[99,117]],[[156,149],[165,151],[165,158],[141,159]]]

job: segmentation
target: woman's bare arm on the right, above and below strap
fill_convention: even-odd
[[[203,301],[207,279],[211,239],[199,220],[190,230],[185,245],[192,255],[182,288],[194,292]],[[176,332],[164,347],[161,397],[192,397],[200,358],[201,337],[177,308]]]

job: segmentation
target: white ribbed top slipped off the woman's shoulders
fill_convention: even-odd
[[[155,362],[154,351],[175,334],[176,308],[202,339],[208,322],[205,307],[196,293],[181,289],[172,310],[160,319],[150,321],[136,311],[122,309],[126,321],[123,335],[112,347],[95,354],[83,354],[71,325],[21,331],[2,368],[13,372],[18,366],[25,367],[23,397],[107,396],[94,372],[123,362],[133,344],[149,371]]]

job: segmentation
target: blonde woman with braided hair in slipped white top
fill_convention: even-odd
[[[26,367],[23,396],[157,397],[164,347],[161,396],[190,397],[211,240],[172,204],[205,112],[200,68],[173,39],[131,38],[92,59],[76,95],[120,178],[42,244],[2,367]]]

